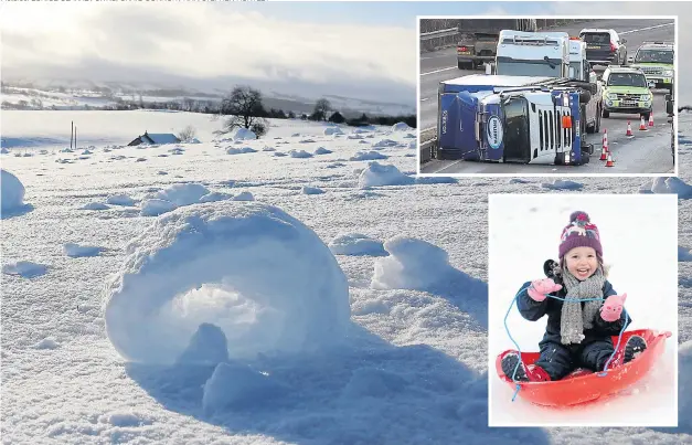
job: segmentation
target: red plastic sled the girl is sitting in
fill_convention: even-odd
[[[622,333],[621,343],[627,342],[630,336],[638,335],[647,341],[647,349],[629,363],[609,369],[607,374],[592,372],[583,369],[575,370],[567,377],[555,382],[513,382],[511,375],[502,372],[502,357],[508,350],[498,356],[496,369],[500,379],[505,381],[512,390],[521,386],[519,395],[528,402],[543,406],[571,406],[581,403],[595,402],[598,399],[615,394],[639,381],[654,365],[658,358],[666,349],[666,339],[670,338],[670,331],[658,332],[651,329],[639,329]],[[617,345],[618,337],[613,337],[613,345]],[[533,364],[541,354],[539,352],[522,352],[521,359],[526,365]]]

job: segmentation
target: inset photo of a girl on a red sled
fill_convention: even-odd
[[[678,426],[677,195],[490,194],[488,213],[489,426]]]

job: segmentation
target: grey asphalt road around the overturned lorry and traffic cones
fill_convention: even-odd
[[[621,20],[594,20],[590,22],[576,23],[572,27],[562,27],[558,31],[566,31],[569,35],[577,35],[584,28],[605,28],[614,29],[627,39],[627,54],[634,56],[637,47],[643,41],[651,40],[674,40],[674,27],[669,20],[651,20],[651,19],[621,19]],[[437,87],[440,82],[470,74],[482,74],[482,70],[467,71],[457,67],[456,47],[445,49],[433,53],[425,53],[420,56],[420,128],[425,131],[435,127],[437,123]],[[596,71],[603,71],[605,67],[597,66]],[[611,114],[609,118],[601,120],[601,131],[607,129],[608,142],[614,157],[620,158],[618,170],[629,173],[663,173],[672,169],[672,156],[670,155],[670,124],[666,118],[664,89],[653,91],[653,119],[656,126],[648,131],[638,131],[639,115]],[[634,138],[626,136],[627,123],[631,121]],[[645,159],[638,159],[635,163],[632,157],[628,157],[627,146],[639,144],[642,138],[648,140],[648,152]],[[578,167],[579,173],[594,173],[592,170],[598,167],[599,171],[603,166],[594,162],[598,159],[601,149],[601,135],[586,135],[586,141],[594,145],[596,153],[592,156],[590,166]],[[618,152],[619,151],[619,152]],[[638,150],[631,150],[638,151]],[[618,162],[616,162],[618,163]],[[556,166],[519,166],[512,165],[508,170],[507,165],[478,163],[478,162],[459,162],[459,161],[436,161],[426,162],[422,166],[422,173],[555,173],[555,172],[574,172],[574,167],[556,167]],[[608,169],[615,171],[616,169]]]

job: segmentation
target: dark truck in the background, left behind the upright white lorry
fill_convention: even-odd
[[[459,29],[459,33],[466,35],[457,44],[457,67],[459,70],[473,70],[483,63],[494,61],[500,39],[500,29],[511,28],[518,31],[535,31],[535,19],[498,19],[492,24],[496,29],[477,30],[465,32]]]

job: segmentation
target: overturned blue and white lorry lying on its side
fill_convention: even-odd
[[[437,159],[584,165],[582,104],[589,84],[554,77],[470,75],[440,83]]]

